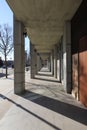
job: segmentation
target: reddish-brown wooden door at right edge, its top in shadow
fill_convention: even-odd
[[[79,97],[87,107],[87,36],[79,42]]]

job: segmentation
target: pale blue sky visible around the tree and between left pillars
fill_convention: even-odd
[[[13,12],[11,11],[10,7],[8,6],[6,0],[0,0],[0,25],[8,24],[13,29]],[[29,39],[25,38],[25,50],[29,53]],[[3,56],[0,53],[0,57]],[[8,56],[8,60],[14,59],[14,54],[11,53]]]

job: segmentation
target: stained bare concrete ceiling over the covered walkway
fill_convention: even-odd
[[[63,35],[82,0],[6,0],[22,21],[37,52],[49,53]]]

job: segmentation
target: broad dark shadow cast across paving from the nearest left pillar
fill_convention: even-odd
[[[80,108],[78,106],[61,102],[59,100],[55,100],[50,97],[46,97],[28,90],[25,92],[25,94],[21,96],[54,112],[62,114],[65,117],[68,117],[84,125],[87,125],[86,108]]]

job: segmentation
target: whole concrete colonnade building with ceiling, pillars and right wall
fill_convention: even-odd
[[[61,82],[65,92],[87,107],[87,1],[7,2],[15,12],[14,92],[25,89],[23,34],[26,28],[31,41],[31,78],[46,60],[49,71]]]

